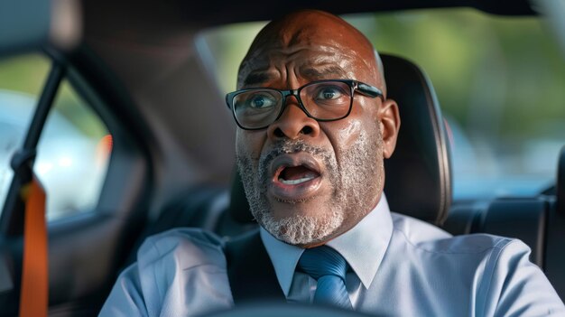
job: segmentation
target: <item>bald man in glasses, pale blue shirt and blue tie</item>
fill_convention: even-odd
[[[522,242],[452,238],[391,214],[383,160],[394,151],[398,107],[386,98],[378,54],[351,25],[319,11],[269,23],[237,88],[227,95],[239,126],[237,166],[261,226],[259,247],[246,252],[266,249],[264,270],[272,264],[273,289],[287,302],[380,315],[565,314]],[[232,307],[224,247],[196,229],[149,238],[101,315]]]

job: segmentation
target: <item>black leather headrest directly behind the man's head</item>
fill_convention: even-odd
[[[449,153],[443,117],[430,80],[411,61],[381,54],[387,98],[402,121],[392,158],[384,161],[384,192],[393,211],[431,223],[446,219],[451,202]],[[230,212],[251,221],[241,178],[232,177]]]

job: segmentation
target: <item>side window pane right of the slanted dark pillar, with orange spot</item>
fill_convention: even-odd
[[[47,217],[96,207],[106,179],[112,136],[64,79],[43,128],[33,170],[47,192]]]

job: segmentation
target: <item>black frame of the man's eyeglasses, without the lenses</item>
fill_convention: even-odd
[[[342,117],[338,117],[338,118],[334,118],[334,119],[320,119],[320,118],[317,118],[317,117],[310,115],[310,113],[308,112],[306,107],[304,107],[304,105],[302,104],[301,95],[300,95],[301,90],[310,86],[310,85],[320,84],[320,83],[323,83],[323,82],[335,82],[335,81],[346,83],[347,86],[349,86],[349,89],[351,89],[351,100],[349,101],[349,108],[347,109],[347,113]],[[251,127],[251,128],[245,127],[245,126],[242,126],[239,123],[239,121],[237,120],[236,109],[233,105],[234,98],[236,98],[236,96],[239,95],[239,94],[242,94],[242,93],[245,93],[245,92],[248,92],[248,91],[253,91],[253,90],[273,90],[273,91],[279,92],[282,95],[282,106],[281,106],[281,110],[279,110],[279,114],[274,118],[273,122],[271,122],[270,124],[268,124],[266,126]],[[355,98],[355,91],[358,91],[360,94],[362,94],[366,97],[370,97],[370,98],[380,97],[384,101],[384,95],[383,95],[383,91],[381,89],[377,89],[375,86],[371,86],[371,85],[366,84],[364,82],[361,82],[361,81],[358,81],[358,80],[355,80],[355,79],[323,79],[323,80],[310,81],[308,84],[301,86],[298,89],[281,90],[281,89],[272,89],[272,88],[267,88],[267,87],[256,87],[256,88],[240,89],[240,90],[232,91],[232,92],[230,92],[226,95],[226,104],[227,104],[227,108],[232,110],[232,115],[234,116],[234,119],[236,120],[237,126],[239,126],[240,128],[242,128],[244,130],[261,130],[261,129],[264,129],[268,126],[271,126],[276,120],[278,120],[282,116],[282,112],[284,112],[284,109],[286,108],[286,98],[289,97],[289,96],[294,96],[296,98],[296,100],[298,100],[298,105],[299,105],[299,107],[301,107],[302,111],[304,111],[306,116],[311,117],[314,120],[321,121],[321,122],[328,122],[328,121],[337,121],[337,120],[341,120],[343,118],[346,118],[351,113],[351,108],[353,107],[353,98]]]

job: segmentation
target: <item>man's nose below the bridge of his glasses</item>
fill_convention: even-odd
[[[294,96],[286,98],[286,107],[281,117],[267,128],[267,135],[272,139],[286,137],[295,140],[301,136],[316,137],[319,134],[318,121],[306,115]]]

